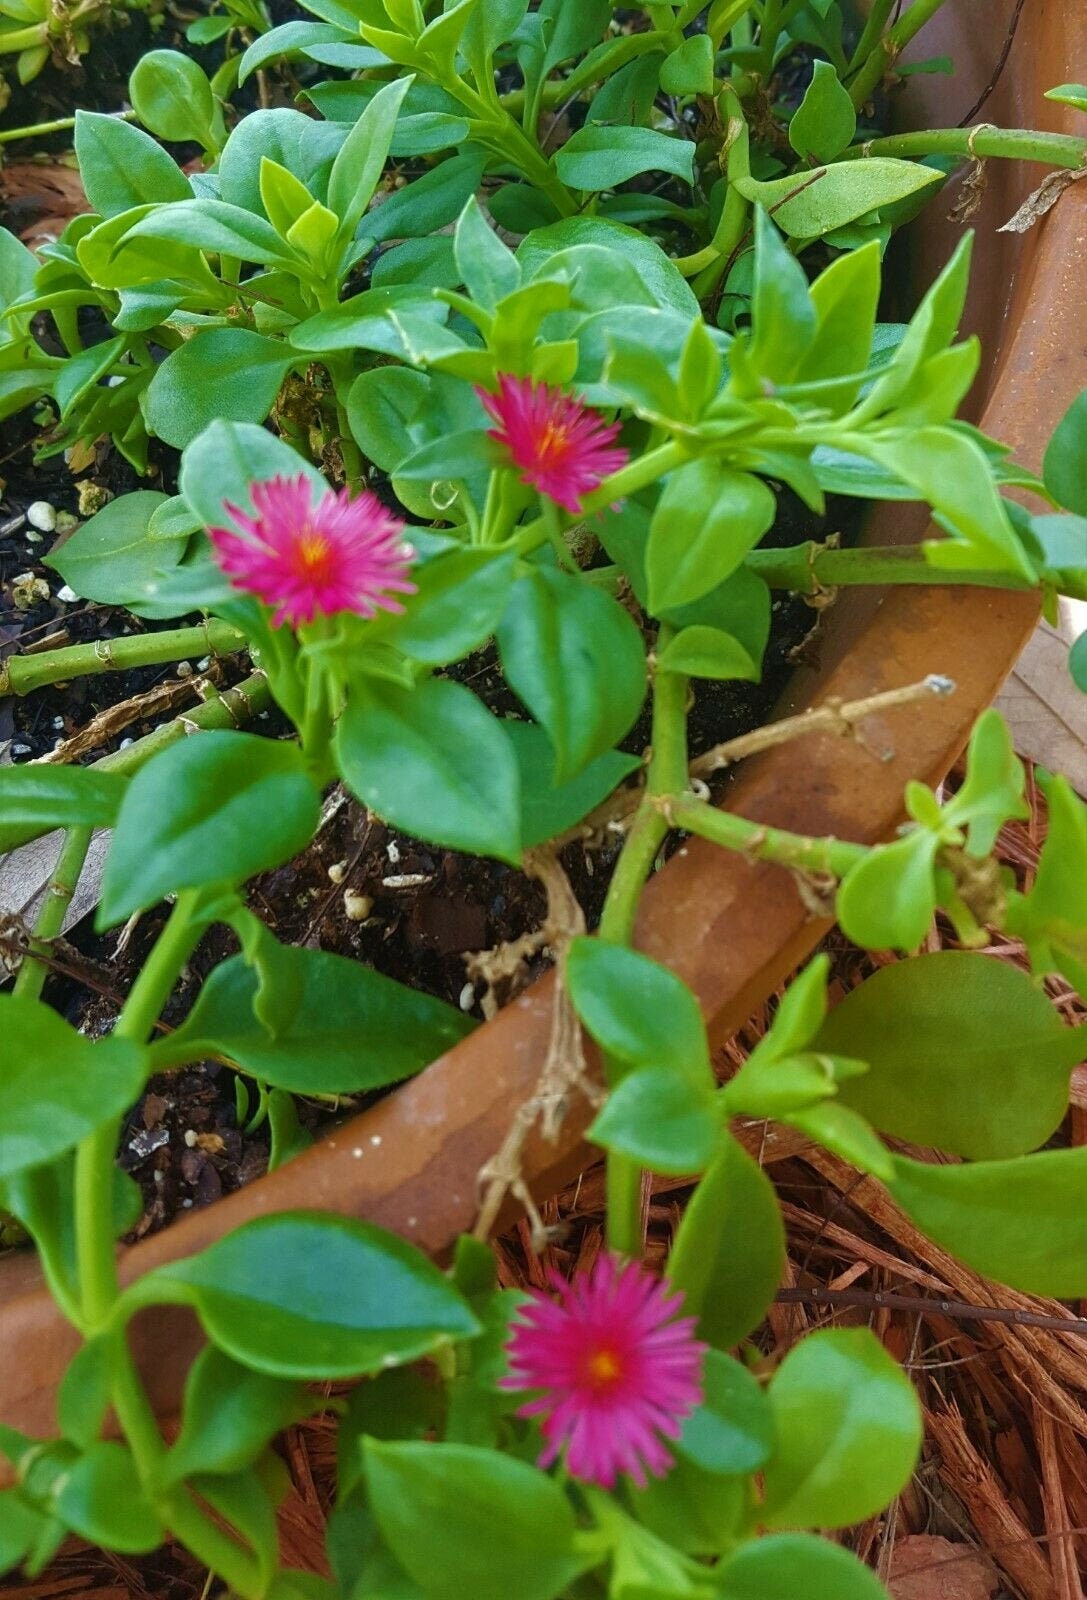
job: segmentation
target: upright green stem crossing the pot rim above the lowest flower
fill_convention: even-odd
[[[674,629],[663,622],[656,653],[672,638]],[[653,683],[653,733],[645,800],[615,864],[600,917],[600,938],[608,944],[629,944],[634,918],[645,882],[653,870],[656,853],[668,838],[671,822],[658,797],[687,789],[687,678],[677,672],[658,672]],[[608,1082],[615,1082],[615,1064],[605,1058]],[[615,1150],[607,1158],[608,1243],[624,1256],[642,1250],[642,1170],[637,1162]]]

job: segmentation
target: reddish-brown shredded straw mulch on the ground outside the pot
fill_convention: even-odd
[[[1045,830],[1033,778],[1029,794],[1031,821],[1010,826],[1001,840],[1020,883],[1029,883]],[[868,955],[839,933],[828,949],[839,992],[893,960]],[[930,949],[954,949],[948,926],[933,928]],[[997,939],[994,954],[1025,965],[1012,939]],[[1087,1016],[1068,989],[1053,984],[1050,992],[1069,1022]],[[773,1003],[725,1046],[725,1074],[759,1038]],[[1087,1142],[1087,1067],[1073,1078],[1063,1138]],[[925,1408],[925,1448],[913,1483],[845,1541],[895,1600],[1085,1600],[1087,1323],[1079,1331],[1068,1323],[1087,1307],[988,1283],[924,1238],[877,1184],[821,1150],[778,1162],[773,1181],[789,1230],[789,1267],[788,1299],[757,1336],[765,1363],[813,1328],[866,1323],[906,1366]],[[682,1179],[647,1186],[652,1258],[664,1258],[688,1194]],[[548,1266],[565,1272],[592,1261],[604,1243],[600,1174],[589,1173],[552,1200],[544,1221],[556,1243],[543,1256],[527,1224],[499,1240],[504,1285],[541,1285]],[[986,1312],[996,1317],[986,1320]],[[293,1429],[282,1450],[293,1482],[280,1514],[283,1560],[320,1571],[335,1419]],[[178,1549],[133,1560],[72,1544],[42,1579],[0,1587],[0,1600],[197,1600],[215,1592]]]

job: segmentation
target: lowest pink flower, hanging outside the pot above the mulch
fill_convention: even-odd
[[[672,1464],[661,1435],[679,1438],[703,1397],[695,1318],[677,1322],[684,1296],[613,1256],[573,1283],[551,1282],[559,1299],[535,1291],[514,1323],[503,1386],[543,1390],[519,1411],[543,1418],[541,1467],[565,1445],[575,1478],[610,1490],[629,1472],[645,1488],[647,1472]]]

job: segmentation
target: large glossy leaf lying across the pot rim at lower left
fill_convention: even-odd
[[[263,1216],[125,1291],[192,1306],[205,1333],[272,1378],[357,1378],[413,1362],[479,1323],[426,1256],[368,1222],[312,1211]]]

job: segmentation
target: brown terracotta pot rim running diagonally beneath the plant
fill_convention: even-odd
[[[1013,0],[986,6],[985,27],[969,0],[949,0],[924,32],[927,54],[948,51],[956,77],[911,78],[903,120],[951,125],[989,78]],[[997,93],[983,115],[1007,126],[1073,131],[1073,114],[1042,98],[1055,83],[1087,78],[1087,13],[1066,0],[1041,0],[1026,14]],[[986,373],[975,413],[1039,467],[1057,419],[1087,384],[1087,184],[1071,187],[1026,237],[996,227],[1042,171],[989,163],[975,219],[973,293],[967,323],[981,333]],[[957,229],[938,200],[900,251],[911,293],[938,270]],[[916,536],[893,509],[874,517],[869,538]],[[962,749],[978,712],[997,693],[1036,621],[1033,595],[980,589],[900,589],[853,598],[826,618],[820,670],[797,672],[796,709],[831,694],[847,699],[913,683],[929,672],[953,677],[957,693],[871,718],[866,746],[812,736],[743,768],[727,805],[749,818],[804,834],[877,842],[901,819],[909,778],[938,781]],[[890,749],[879,760],[871,747]],[[637,928],[640,949],[672,966],[695,990],[709,1034],[722,1042],[812,950],[828,923],[810,920],[791,875],[751,864],[701,842],[682,850],[648,886]],[[240,1222],[296,1206],[365,1216],[442,1254],[475,1214],[475,1179],[495,1154],[517,1106],[535,1085],[549,1029],[551,982],[543,979],[493,1022],[435,1061],[371,1110],[338,1128],[285,1170],[208,1211],[189,1216],[128,1250],[123,1277],[191,1254]],[[554,1147],[527,1154],[538,1195],[592,1158],[581,1142],[586,1115],[575,1110]],[[781,1130],[751,1130],[764,1160],[794,1147]],[[75,1336],[45,1294],[32,1258],[0,1264],[0,1419],[30,1434],[54,1427],[56,1382]],[[170,1413],[199,1342],[186,1314],[141,1317],[134,1342],[155,1405]]]

